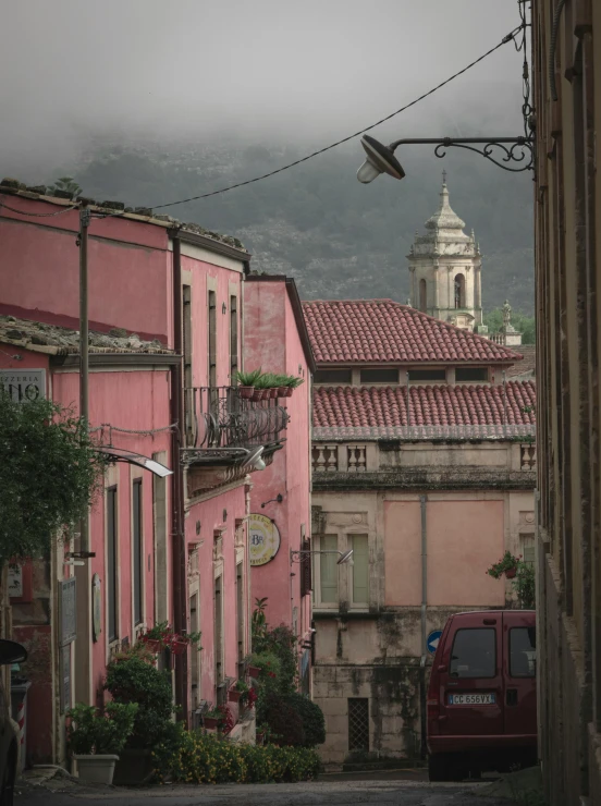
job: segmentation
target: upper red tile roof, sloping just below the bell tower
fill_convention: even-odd
[[[513,364],[520,354],[392,300],[303,303],[318,364]]]

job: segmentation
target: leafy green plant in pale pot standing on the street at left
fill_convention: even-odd
[[[112,784],[119,754],[134,731],[137,703],[109,703],[105,712],[79,703],[66,712],[69,749],[79,780]]]

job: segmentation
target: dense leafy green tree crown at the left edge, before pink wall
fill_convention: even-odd
[[[0,563],[45,557],[87,513],[107,461],[70,410],[1,389],[0,455]]]

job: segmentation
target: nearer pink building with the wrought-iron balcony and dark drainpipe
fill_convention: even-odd
[[[15,210],[0,208],[0,367],[44,369],[40,393],[77,411],[78,211],[15,186],[0,191]],[[32,601],[14,602],[15,636],[32,660],[46,658],[24,668],[37,674],[29,697],[51,691],[61,701],[45,706],[51,718],[40,722],[51,729],[37,745],[30,725],[36,761],[64,758],[64,706],[98,701],[107,662],[156,623],[203,634],[203,649],[173,663],[188,723],[209,704],[228,701],[250,649],[250,478],[271,464],[287,419],[277,402],[241,402],[232,389],[249,261],[242,244],[148,210],[106,218],[106,208],[90,209],[90,427],[102,445],[154,457],[173,473],[161,478],[131,460],[111,465],[90,513],[95,557],[65,565],[69,549],[59,544],[50,567],[34,563]],[[269,429],[257,413],[265,405],[273,408]],[[58,615],[71,579],[77,626],[66,642]],[[234,732],[249,737],[253,730],[241,723]]]

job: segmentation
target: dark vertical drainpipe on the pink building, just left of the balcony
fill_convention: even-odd
[[[177,230],[169,232],[173,240],[173,349],[180,361],[171,368],[171,422],[175,423],[172,431],[172,506],[173,506],[173,626],[176,633],[187,628],[186,613],[186,544],[184,520],[184,477],[181,464],[181,449],[184,447],[184,398],[183,383],[183,298],[182,298],[182,256]],[[175,658],[175,698],[181,706],[184,722],[188,718],[187,652]]]

